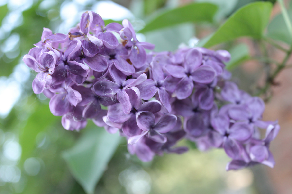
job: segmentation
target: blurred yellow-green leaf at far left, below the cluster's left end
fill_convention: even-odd
[[[34,112],[29,116],[27,123],[20,130],[19,143],[22,148],[20,163],[31,156],[36,148],[36,136],[47,127],[55,124],[59,117],[52,115],[48,104],[34,102]]]

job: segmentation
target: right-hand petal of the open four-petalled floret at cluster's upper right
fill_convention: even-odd
[[[215,78],[215,71],[212,67],[204,65],[192,72],[191,77],[197,83],[211,83]]]

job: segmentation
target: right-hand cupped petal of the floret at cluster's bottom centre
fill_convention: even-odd
[[[167,133],[175,127],[178,118],[175,115],[164,115],[160,118],[159,122],[153,127],[153,130],[159,133]]]

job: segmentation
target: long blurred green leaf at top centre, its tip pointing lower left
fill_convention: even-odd
[[[185,22],[212,22],[216,10],[217,6],[211,3],[191,3],[162,13],[139,32],[145,33]]]

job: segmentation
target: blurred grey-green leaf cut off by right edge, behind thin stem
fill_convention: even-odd
[[[292,3],[291,3],[292,4]],[[292,20],[292,8],[287,10],[290,20]],[[279,13],[272,19],[267,29],[267,36],[274,39],[288,43],[292,42],[292,37],[288,32],[288,28],[284,21],[282,13]]]

